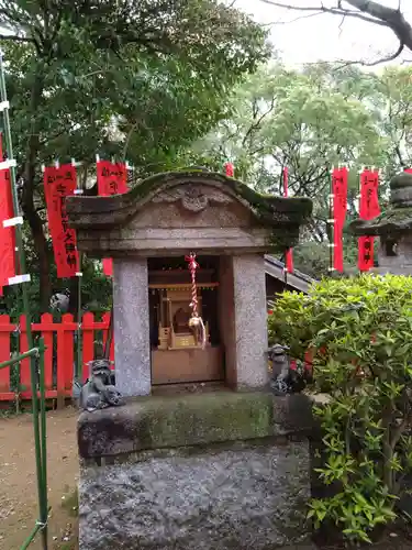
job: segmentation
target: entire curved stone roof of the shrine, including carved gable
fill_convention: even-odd
[[[129,193],[67,200],[79,250],[101,257],[283,251],[312,211],[307,198],[264,196],[222,174],[157,174]]]

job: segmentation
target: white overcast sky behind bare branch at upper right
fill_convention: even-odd
[[[278,1],[293,6],[321,4],[321,0]],[[336,6],[336,0],[323,1],[325,6]],[[381,3],[398,8],[399,0],[381,0]],[[260,0],[236,0],[235,6],[253,14],[260,23],[278,22],[271,26],[271,40],[288,65],[320,59],[374,61],[396,52],[399,46],[391,31],[350,18],[347,18],[342,25],[342,18],[330,14],[293,21],[303,13],[275,8]],[[402,0],[401,9],[412,23],[412,0]],[[288,21],[289,23],[286,23]],[[412,61],[412,52],[407,52],[403,58]]]

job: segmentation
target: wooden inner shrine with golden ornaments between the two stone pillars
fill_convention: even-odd
[[[148,260],[154,385],[224,380],[218,312],[219,256],[197,260],[198,309],[207,333],[203,350],[189,328],[192,286],[185,257]]]

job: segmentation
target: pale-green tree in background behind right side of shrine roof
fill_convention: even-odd
[[[332,167],[343,163],[352,169],[350,217],[357,208],[358,169],[386,160],[386,135],[372,101],[376,95],[380,100],[378,84],[358,69],[336,73],[326,64],[301,72],[279,63],[263,66],[237,87],[231,117],[192,147],[212,166],[231,158],[236,175],[261,191],[281,194],[281,168],[289,168],[290,193],[314,202],[313,221],[302,235],[308,246],[297,253],[297,267],[305,271],[308,257],[312,275],[327,273]],[[345,239],[353,262],[355,243]],[[313,243],[319,245],[316,254]]]

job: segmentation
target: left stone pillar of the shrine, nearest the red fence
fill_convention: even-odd
[[[149,395],[151,338],[147,258],[114,260],[115,383],[126,397]]]

